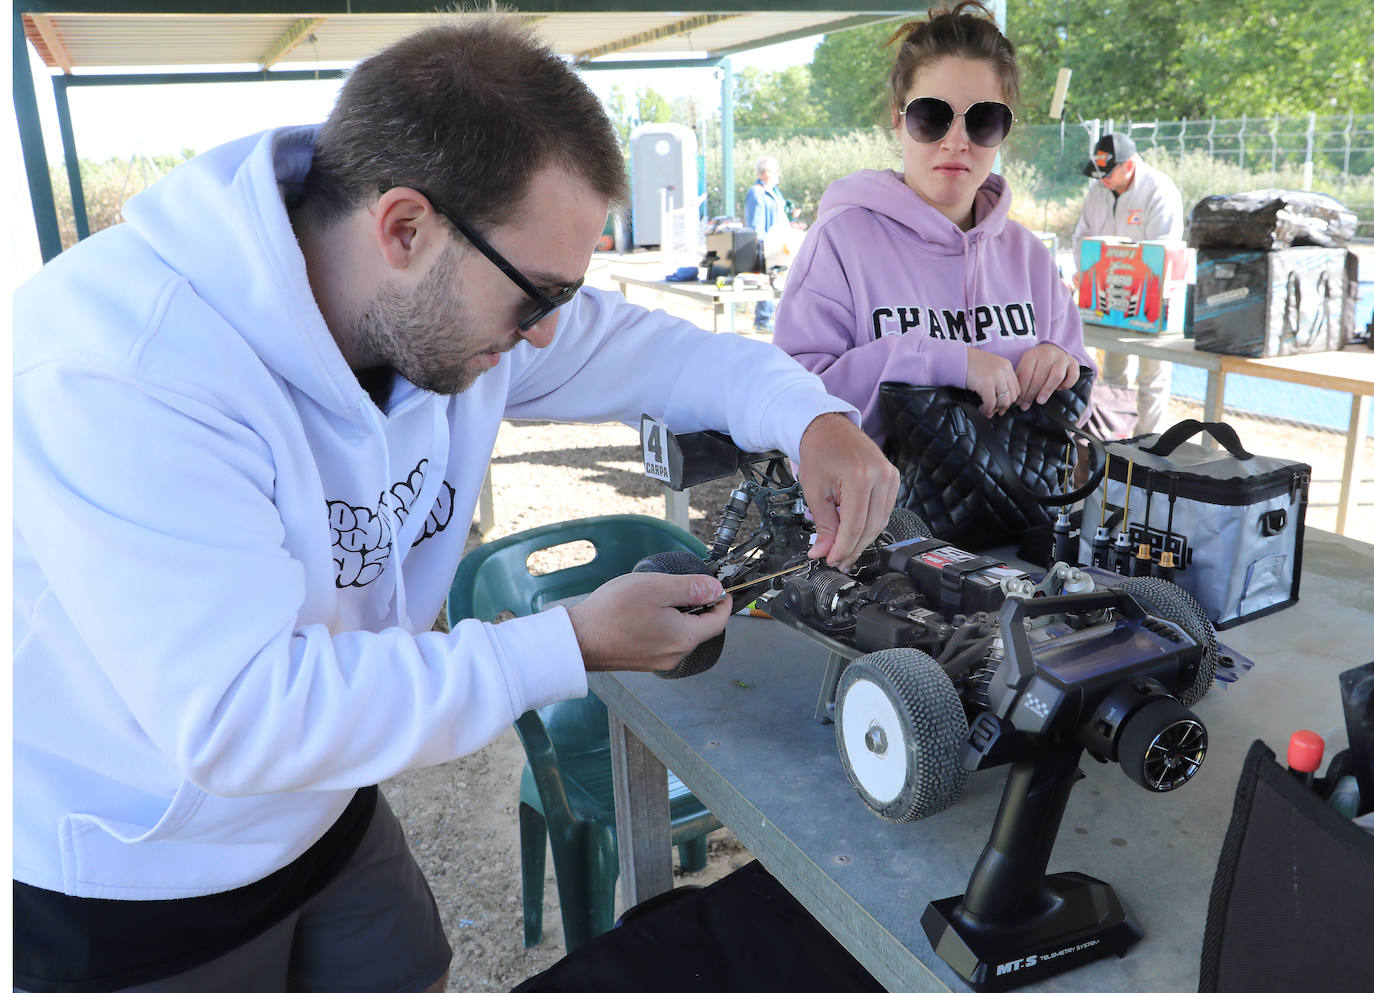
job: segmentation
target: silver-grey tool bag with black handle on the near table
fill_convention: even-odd
[[[1219,448],[1189,441],[1204,433]],[[1081,562],[1105,521],[1132,549],[1149,543],[1156,569],[1172,567],[1216,628],[1297,603],[1311,466],[1252,455],[1230,424],[1191,419],[1106,450],[1107,472],[1083,505]]]

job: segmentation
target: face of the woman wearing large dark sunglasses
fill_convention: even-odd
[[[918,96],[936,96],[954,107],[954,124],[938,141],[922,144],[907,133],[903,110]],[[893,107],[893,126],[901,140],[903,179],[916,195],[967,231],[973,227],[973,198],[992,172],[996,148],[969,140],[962,113],[980,100],[1006,103],[1002,81],[991,62],[945,56],[916,73],[901,106]]]

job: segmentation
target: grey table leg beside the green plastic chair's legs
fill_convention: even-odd
[[[614,710],[609,716],[620,893],[631,908],[673,889],[668,769]]]

